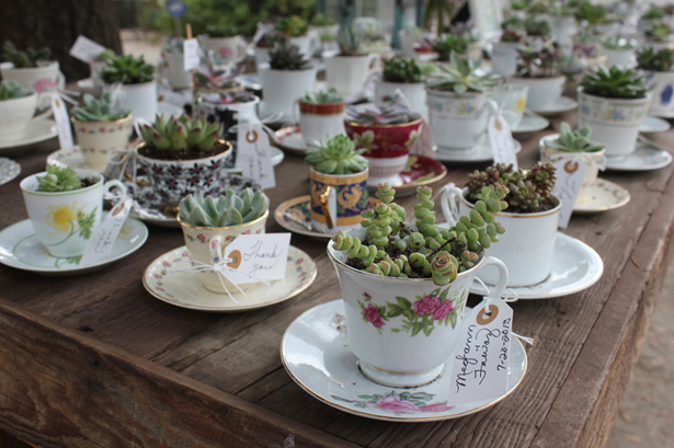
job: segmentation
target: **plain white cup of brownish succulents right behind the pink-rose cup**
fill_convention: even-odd
[[[494,214],[505,233],[500,237],[499,244],[487,250],[487,254],[507,266],[507,286],[536,285],[550,275],[552,267],[561,209],[561,200],[551,193],[556,179],[555,166],[550,163],[539,162],[526,171],[498,163],[468,174],[464,189],[446,185],[441,203],[443,212],[449,225],[457,222],[458,226],[460,215],[469,215],[477,209],[477,200],[482,198],[485,187],[507,188],[503,197],[509,205],[507,210]],[[457,211],[453,212],[456,210],[453,204],[457,199],[458,215]],[[484,269],[480,278],[495,285],[496,272]]]

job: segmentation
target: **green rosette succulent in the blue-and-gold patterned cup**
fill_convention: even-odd
[[[328,137],[307,151],[305,161],[324,174],[353,174],[367,168],[367,159],[356,150],[356,143],[344,135]]]

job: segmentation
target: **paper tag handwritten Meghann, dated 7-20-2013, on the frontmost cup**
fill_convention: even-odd
[[[504,300],[487,300],[464,318],[452,358],[448,403],[478,401],[507,392],[513,309]]]

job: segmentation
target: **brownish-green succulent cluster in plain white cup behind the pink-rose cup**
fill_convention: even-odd
[[[496,163],[484,171],[468,174],[466,183],[467,199],[477,204],[482,199],[484,187],[505,187],[507,194],[502,198],[507,203],[510,212],[535,214],[557,207],[551,195],[555,186],[555,166],[538,162],[527,171],[514,170],[513,165]]]

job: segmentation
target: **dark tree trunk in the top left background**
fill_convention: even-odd
[[[122,53],[113,0],[0,0],[0,43],[49,47],[69,81],[89,77],[89,66],[68,51],[81,34]]]

